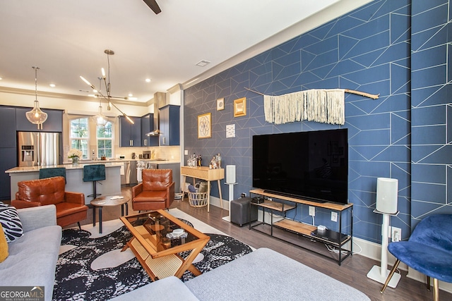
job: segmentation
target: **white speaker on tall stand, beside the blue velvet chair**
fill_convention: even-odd
[[[386,214],[397,213],[398,180],[376,179],[376,210]]]

